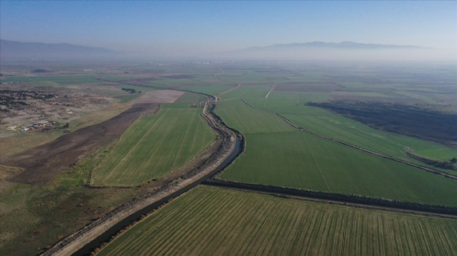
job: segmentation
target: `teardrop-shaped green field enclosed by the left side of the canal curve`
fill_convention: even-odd
[[[93,170],[93,185],[136,185],[176,170],[208,147],[216,134],[199,108],[163,108],[125,131]]]

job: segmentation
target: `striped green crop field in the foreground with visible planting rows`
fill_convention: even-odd
[[[454,255],[457,221],[198,187],[98,255]]]

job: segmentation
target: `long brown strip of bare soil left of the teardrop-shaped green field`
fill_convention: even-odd
[[[10,181],[43,185],[78,159],[117,140],[138,116],[158,109],[159,104],[134,104],[114,118],[65,134],[51,143],[11,156],[1,164],[24,169]]]

